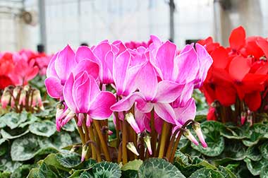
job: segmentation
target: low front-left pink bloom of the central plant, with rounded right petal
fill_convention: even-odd
[[[95,78],[90,76],[87,71],[80,73],[78,76],[70,74],[63,88],[63,97],[66,106],[69,109],[68,116],[62,119],[61,126],[65,125],[75,115],[87,114],[87,119],[107,119],[111,116],[112,111],[109,109],[116,102],[116,97],[106,91],[100,91]],[[90,123],[87,121],[87,126]]]

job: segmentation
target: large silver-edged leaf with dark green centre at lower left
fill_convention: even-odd
[[[39,150],[38,138],[35,135],[28,134],[16,138],[11,145],[11,158],[16,161],[25,161],[34,158]]]

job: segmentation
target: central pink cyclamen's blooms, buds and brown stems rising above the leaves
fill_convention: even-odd
[[[198,145],[186,128],[193,125],[207,147],[195,118],[191,97],[207,76],[212,58],[202,45],[176,45],[151,36],[149,47],[130,49],[107,40],[93,47],[66,46],[52,57],[45,85],[60,100],[56,129],[75,119],[82,160],[123,162],[140,158],[173,158],[181,135]],[[115,91],[111,93],[108,88]],[[109,144],[110,116],[116,143]],[[79,146],[73,146],[75,150]]]

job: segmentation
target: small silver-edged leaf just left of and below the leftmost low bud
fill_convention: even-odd
[[[77,153],[58,153],[56,160],[63,166],[68,168],[77,167],[81,163],[81,158]]]

